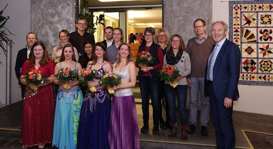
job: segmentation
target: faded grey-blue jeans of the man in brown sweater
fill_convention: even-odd
[[[190,115],[189,123],[196,126],[196,116],[197,116],[197,106],[198,106],[198,97],[200,91],[200,100],[201,100],[201,115],[200,115],[200,125],[208,126],[209,122],[209,100],[205,98],[204,95],[204,78],[201,77],[189,77],[191,81],[190,87]]]

